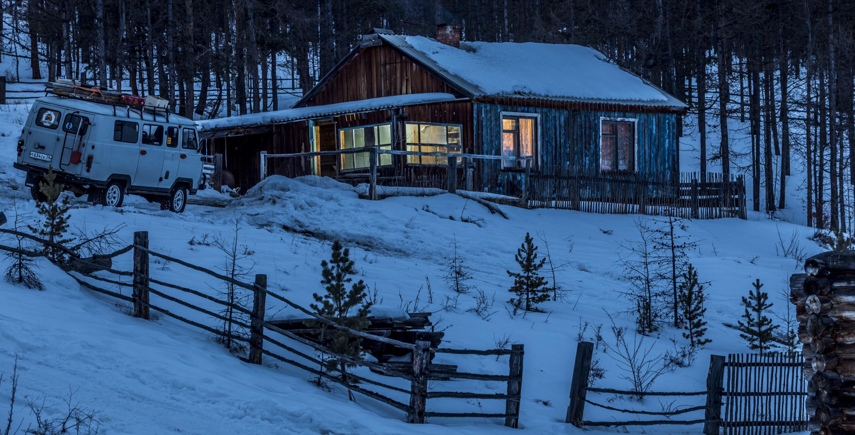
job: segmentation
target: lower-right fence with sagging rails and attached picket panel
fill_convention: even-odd
[[[713,355],[705,391],[623,391],[588,386],[593,343],[576,349],[570,402],[565,421],[584,426],[659,426],[704,424],[705,435],[799,432],[806,427],[805,382],[801,362],[794,356]],[[705,397],[705,403],[669,411],[623,409],[597,403],[588,392],[630,397]],[[665,420],[584,420],[586,405],[622,414],[652,415]],[[722,414],[723,408],[723,414]],[[704,412],[703,418],[672,420],[675,415]]]

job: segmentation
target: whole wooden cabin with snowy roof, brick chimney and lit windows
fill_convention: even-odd
[[[259,152],[381,149],[531,156],[532,170],[591,173],[679,170],[685,103],[598,51],[573,44],[460,40],[375,29],[292,109],[200,121],[209,153],[245,191],[260,180]],[[441,177],[447,158],[380,155],[379,184]],[[268,174],[364,182],[368,153],[271,158]],[[469,159],[467,188],[519,196],[522,161]]]

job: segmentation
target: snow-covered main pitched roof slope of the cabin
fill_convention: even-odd
[[[685,109],[602,53],[574,44],[461,42],[377,35],[471,97],[517,97]]]

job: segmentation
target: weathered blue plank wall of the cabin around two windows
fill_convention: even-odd
[[[676,173],[677,115],[663,113],[608,112],[473,104],[475,152],[501,154],[502,112],[540,114],[540,165],[572,167],[596,172],[599,168],[599,119],[634,118],[636,122],[636,156],[640,173]],[[499,161],[480,165],[481,186],[487,191],[508,195],[519,194],[522,173],[502,170]]]

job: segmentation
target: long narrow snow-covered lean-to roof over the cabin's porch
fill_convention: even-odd
[[[285,122],[304,121],[331,115],[353,114],[372,110],[391,109],[411,106],[414,104],[444,103],[456,100],[451,94],[444,92],[429,92],[422,94],[396,95],[392,97],[369,98],[366,100],[348,101],[345,103],[326,104],[323,106],[302,107],[296,109],[274,110],[251,115],[229,116],[211,120],[196,121],[202,131],[221,130],[238,127],[280,124]]]

